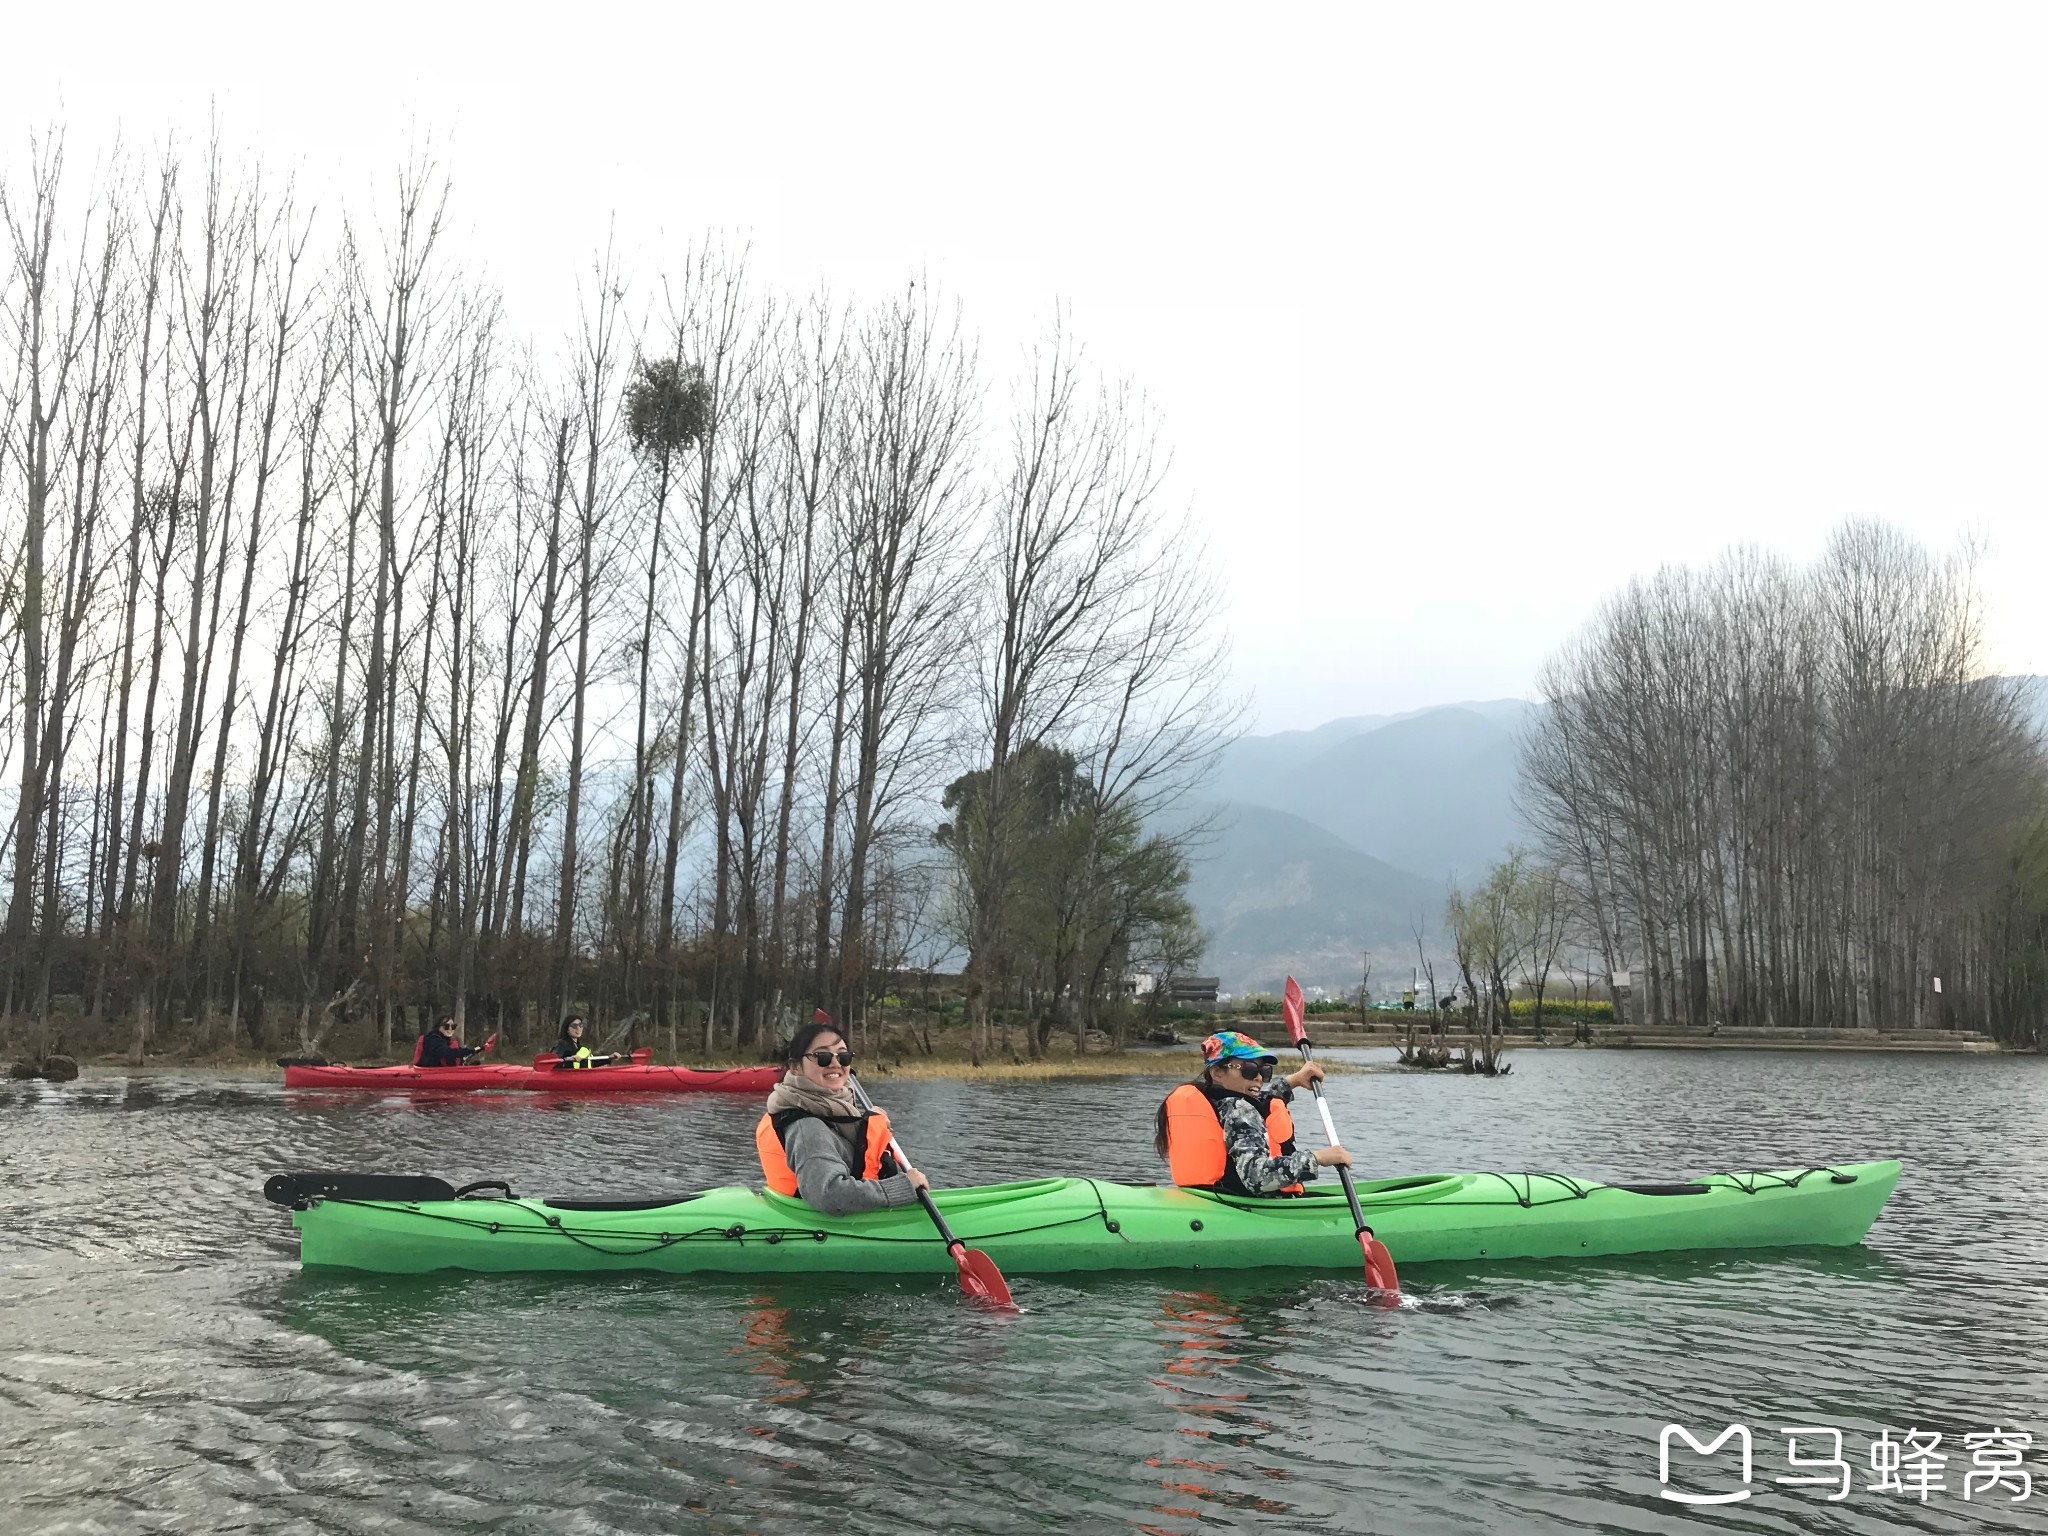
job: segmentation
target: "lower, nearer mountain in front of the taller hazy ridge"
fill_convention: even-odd
[[[1229,803],[1194,862],[1188,897],[1214,936],[1204,973],[1225,991],[1356,987],[1360,954],[1405,971],[1411,922],[1438,926],[1444,887],[1362,854],[1286,811]],[[1434,944],[1432,944],[1434,950]]]

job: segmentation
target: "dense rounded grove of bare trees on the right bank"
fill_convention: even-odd
[[[1845,524],[1806,573],[1636,582],[1550,662],[1522,799],[1640,1022],[1913,1026],[1935,954],[1999,965],[1980,913],[2044,768],[1978,657],[1968,551]]]

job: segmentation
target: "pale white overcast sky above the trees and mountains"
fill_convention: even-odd
[[[57,10],[6,160],[211,104],[367,207],[432,141],[541,338],[608,227],[926,272],[991,375],[1065,301],[1165,414],[1257,729],[1528,694],[1630,573],[1858,514],[1980,539],[1993,666],[2048,672],[2038,6]]]

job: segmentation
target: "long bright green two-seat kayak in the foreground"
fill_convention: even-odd
[[[1675,1249],[1849,1245],[1898,1163],[1597,1184],[1561,1174],[1360,1180],[1395,1262],[1563,1260]],[[483,1194],[494,1198],[477,1198]],[[823,1217],[801,1200],[723,1188],[662,1200],[510,1198],[504,1184],[281,1174],[305,1264],[426,1270],[670,1270],[674,1274],[950,1274],[918,1206]],[[465,1194],[471,1198],[455,1198]],[[1241,1200],[1202,1190],[1049,1178],[934,1192],[952,1229],[1006,1274],[1075,1270],[1356,1270],[1337,1190]]]

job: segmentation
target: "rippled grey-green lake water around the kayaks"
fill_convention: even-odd
[[[1159,1178],[1167,1085],[870,1079],[940,1184]],[[950,1278],[301,1272],[260,1198],[293,1167],[758,1182],[752,1102],[0,1083],[0,1528],[2048,1530],[2048,1061],[1550,1051],[1331,1100],[1374,1176],[1907,1171],[1858,1249],[1411,1266],[1399,1311],[1284,1272],[1026,1276],[999,1317]],[[1661,1499],[1665,1423],[1747,1425],[1753,1497]],[[1845,1499],[1774,1483],[1784,1425],[1843,1432]],[[2023,1503],[1962,1497],[1995,1427],[2034,1436]],[[1886,1430],[1944,1436],[1925,1501],[1868,1487]],[[1733,1452],[1681,1446],[1675,1485]]]

